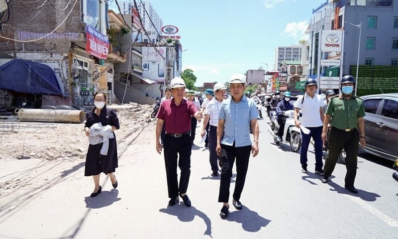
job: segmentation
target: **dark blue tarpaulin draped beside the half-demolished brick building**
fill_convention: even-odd
[[[53,69],[23,59],[14,59],[0,66],[0,88],[20,93],[63,96]]]

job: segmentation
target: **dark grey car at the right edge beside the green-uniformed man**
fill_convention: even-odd
[[[366,112],[365,151],[395,161],[398,158],[398,93],[361,97]]]

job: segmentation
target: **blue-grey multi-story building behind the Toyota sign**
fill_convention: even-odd
[[[313,9],[310,23],[309,75],[322,76],[326,67],[339,68],[336,71],[338,75],[334,77],[341,77],[348,74],[355,76],[357,65],[397,66],[397,12],[398,4],[393,4],[393,0],[329,0]],[[320,39],[323,39],[321,30],[342,31],[340,52],[319,50],[319,44],[322,43]],[[324,59],[335,60],[337,65],[322,66],[321,61]],[[334,74],[334,71],[328,72]],[[358,78],[361,78],[361,74]],[[338,88],[337,84],[333,88]]]

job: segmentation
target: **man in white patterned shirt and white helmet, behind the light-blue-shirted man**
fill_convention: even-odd
[[[201,136],[204,136],[206,126],[208,127],[208,149],[210,151],[209,161],[211,166],[211,176],[218,176],[218,165],[217,165],[217,152],[215,148],[217,147],[217,126],[218,126],[218,114],[221,109],[221,102],[224,99],[225,90],[227,88],[222,83],[216,83],[213,88],[215,97],[207,103],[206,110],[204,112],[204,120]]]

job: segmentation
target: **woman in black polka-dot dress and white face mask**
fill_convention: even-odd
[[[102,126],[111,125],[112,131],[119,128],[119,119],[113,110],[106,109],[105,106],[106,95],[103,92],[97,92],[94,95],[95,108],[86,114],[86,123],[84,131],[86,135],[90,135],[90,127],[95,123],[101,123]],[[113,138],[109,138],[109,147],[106,155],[100,155],[102,143],[90,144],[86,156],[85,176],[93,176],[94,192],[91,197],[96,197],[101,193],[100,173],[109,175],[109,179],[113,188],[117,187],[117,180],[113,174],[118,167],[117,164],[117,148],[116,136],[113,133]]]

